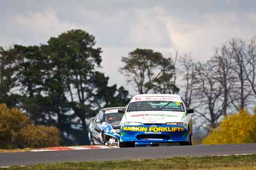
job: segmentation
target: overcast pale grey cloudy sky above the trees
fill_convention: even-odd
[[[179,48],[206,60],[214,46],[256,36],[256,1],[35,1],[0,2],[0,46],[44,44],[69,29],[83,29],[102,47],[102,71],[124,85],[121,57],[135,48],[164,55]],[[134,92],[132,92],[134,93]]]

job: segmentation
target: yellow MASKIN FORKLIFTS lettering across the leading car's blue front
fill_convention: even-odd
[[[140,127],[140,126],[125,126],[123,131],[135,132],[183,132],[184,127]]]

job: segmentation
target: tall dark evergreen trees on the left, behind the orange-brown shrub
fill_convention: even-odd
[[[86,118],[129,101],[124,87],[109,86],[97,71],[101,53],[82,30],[64,32],[46,45],[0,48],[0,103],[24,111],[35,125],[58,127],[62,145],[88,144]]]

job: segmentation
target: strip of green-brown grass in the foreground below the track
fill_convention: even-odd
[[[170,157],[166,159],[64,162],[7,169],[256,169],[256,154],[225,157]]]

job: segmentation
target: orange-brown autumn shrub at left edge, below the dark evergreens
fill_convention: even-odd
[[[34,125],[21,111],[0,104],[0,148],[39,148],[60,145],[56,127]]]

